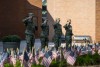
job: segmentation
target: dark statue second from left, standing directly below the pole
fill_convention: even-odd
[[[41,35],[40,35],[40,40],[42,44],[42,48],[45,48],[45,46],[48,46],[48,36],[49,36],[49,25],[47,24],[48,20],[46,19],[42,25],[41,25]]]

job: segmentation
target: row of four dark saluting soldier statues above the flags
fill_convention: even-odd
[[[26,30],[26,43],[27,43],[27,52],[32,50],[32,47],[34,47],[35,42],[35,31],[37,30],[36,22],[33,20],[34,18],[33,13],[28,13],[28,16],[23,19],[23,22],[25,24]],[[45,46],[48,46],[48,36],[49,36],[49,25],[48,25],[48,19],[44,20],[44,22],[41,24],[41,34],[40,34],[40,40],[41,40],[41,48],[45,48]],[[72,43],[72,26],[71,26],[71,19],[67,21],[68,24],[65,24],[63,27],[66,30],[65,33],[65,42],[66,42],[66,49],[71,47]],[[60,18],[57,18],[55,21],[55,24],[53,24],[54,28],[54,37],[53,42],[55,44],[56,50],[58,50],[58,47],[61,45],[61,36],[62,36],[62,25],[60,24]],[[70,46],[70,47],[68,47]]]

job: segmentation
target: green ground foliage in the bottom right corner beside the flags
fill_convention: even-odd
[[[76,66],[87,66],[87,65],[98,65],[100,64],[100,55],[95,53],[94,55],[87,54],[78,56],[75,65]]]

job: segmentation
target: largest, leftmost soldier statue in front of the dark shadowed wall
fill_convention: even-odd
[[[37,29],[36,22],[33,19],[34,19],[33,13],[28,13],[28,17],[23,19],[23,22],[26,27],[25,34],[26,34],[26,43],[27,43],[27,51],[28,52],[30,50],[32,50],[32,47],[34,46],[35,31]]]

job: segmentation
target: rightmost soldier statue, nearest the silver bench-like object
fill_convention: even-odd
[[[70,49],[71,50],[71,44],[72,44],[72,26],[71,24],[71,19],[69,19],[67,22],[69,22],[68,24],[64,25],[64,28],[66,30],[65,33],[65,42],[66,42],[66,49]]]

